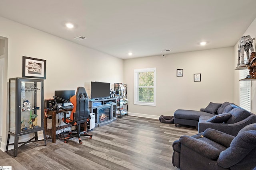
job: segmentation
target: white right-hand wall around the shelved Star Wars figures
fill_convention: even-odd
[[[242,36],[246,36],[246,35],[250,35],[252,38],[256,38],[256,19],[251,23],[251,25],[246,29],[246,31],[244,32],[244,34]],[[241,36],[241,37],[242,37]],[[236,45],[234,46],[234,61],[235,61],[235,66],[234,68],[236,68],[237,65],[237,59],[238,59],[238,42],[236,43]],[[254,40],[254,51],[256,48],[256,40]],[[246,56],[246,53],[245,53]],[[239,70],[235,70],[235,79],[234,79],[234,84],[235,84],[235,102],[239,103]],[[251,81],[252,82],[252,112],[256,113],[256,81]]]

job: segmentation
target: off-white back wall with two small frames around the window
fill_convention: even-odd
[[[206,107],[209,102],[234,102],[234,47],[143,57],[124,61],[130,115],[158,118],[176,109]],[[134,69],[156,67],[156,106],[134,105]],[[176,69],[184,69],[177,77]],[[194,74],[201,82],[194,82]]]

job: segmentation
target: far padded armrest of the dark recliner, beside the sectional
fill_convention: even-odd
[[[234,136],[232,135],[210,128],[206,129],[203,135],[226,148],[230,147],[230,143],[234,139]]]

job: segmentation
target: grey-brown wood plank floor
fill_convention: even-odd
[[[178,170],[172,166],[172,142],[181,135],[194,135],[196,129],[175,127],[158,119],[124,116],[96,127],[92,139],[73,138],[68,143],[29,143],[18,149],[0,151],[0,166],[13,170]]]

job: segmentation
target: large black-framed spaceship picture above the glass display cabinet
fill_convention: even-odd
[[[22,77],[46,79],[46,60],[23,56]]]

